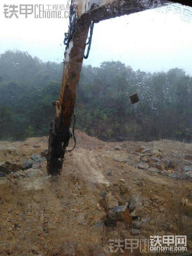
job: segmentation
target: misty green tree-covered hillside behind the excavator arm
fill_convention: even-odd
[[[25,52],[0,56],[0,139],[48,135],[63,64]],[[137,92],[140,101],[129,102]],[[182,69],[145,73],[120,61],[83,66],[76,128],[103,140],[192,139],[192,78]]]

